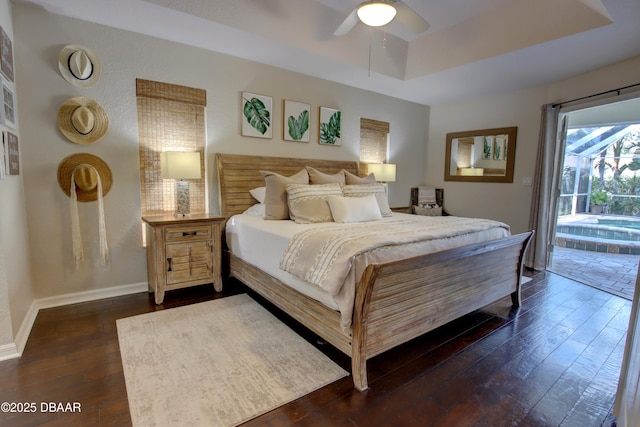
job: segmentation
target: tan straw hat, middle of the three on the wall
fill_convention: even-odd
[[[60,106],[58,127],[71,142],[93,144],[109,130],[109,117],[93,99],[77,96]]]

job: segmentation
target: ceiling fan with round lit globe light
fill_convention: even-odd
[[[344,36],[358,22],[370,27],[380,27],[397,18],[405,27],[420,34],[429,28],[429,23],[400,0],[365,1],[360,3],[333,33]]]

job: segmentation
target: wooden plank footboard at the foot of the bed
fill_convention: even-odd
[[[371,357],[510,295],[520,306],[524,254],[533,232],[372,264],[353,315],[352,374],[366,390]]]

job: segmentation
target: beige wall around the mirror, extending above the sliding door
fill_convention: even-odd
[[[538,146],[541,106],[639,83],[640,57],[551,85],[431,107],[426,181],[445,189],[445,208],[454,215],[504,221],[514,233],[526,231]],[[444,181],[446,134],[517,126],[512,184]]]

